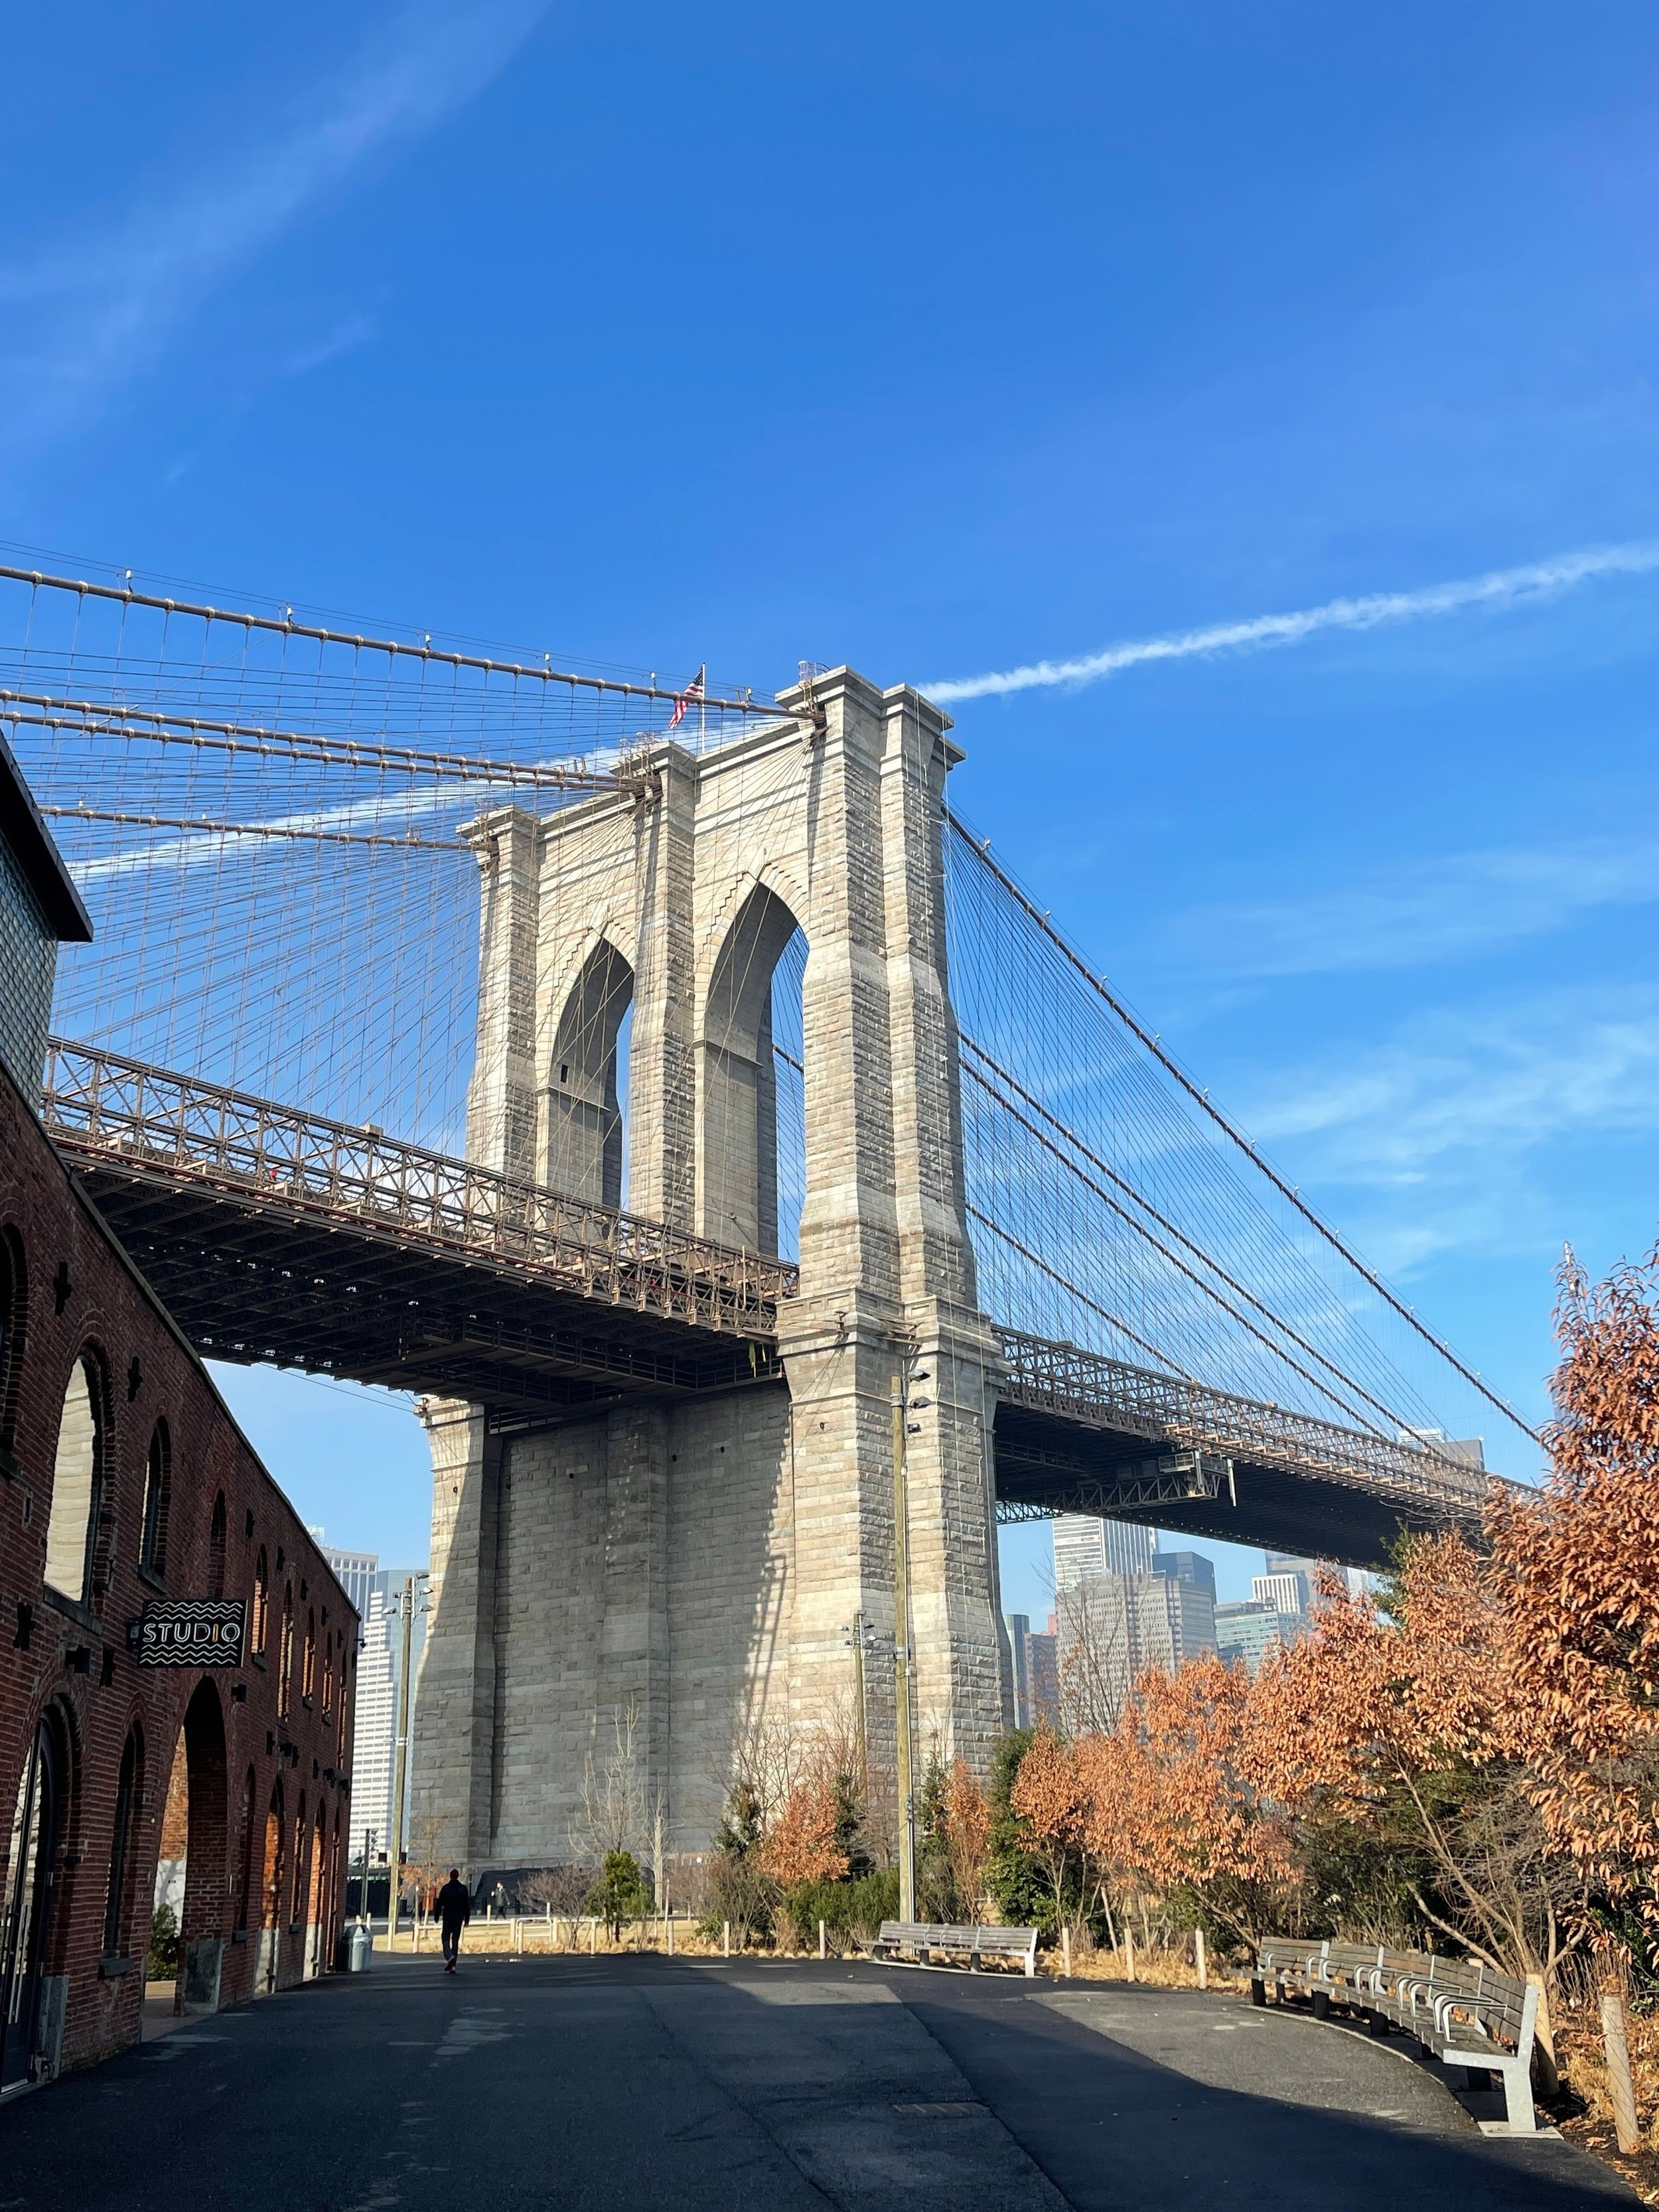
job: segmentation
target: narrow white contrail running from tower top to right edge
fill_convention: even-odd
[[[1601,575],[1648,575],[1659,568],[1659,540],[1646,538],[1619,546],[1584,546],[1555,560],[1528,562],[1522,568],[1493,568],[1486,575],[1451,584],[1427,584],[1422,591],[1378,591],[1360,599],[1327,599],[1290,615],[1252,615],[1245,622],[1217,622],[1203,630],[1175,630],[1168,637],[1139,637],[1104,653],[1086,653],[1068,661],[1029,661],[980,677],[947,677],[925,684],[929,699],[942,706],[958,699],[995,699],[1006,692],[1044,690],[1053,686],[1099,684],[1126,668],[1150,661],[1190,661],[1214,653],[1259,653],[1265,646],[1298,646],[1321,630],[1380,630],[1396,622],[1422,622],[1431,615],[1460,615],[1471,608],[1506,608],[1531,599],[1551,599]]]

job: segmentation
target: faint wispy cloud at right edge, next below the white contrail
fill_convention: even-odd
[[[1307,898],[1237,900],[1179,916],[1170,940],[1223,975],[1332,975],[1471,958],[1599,907],[1659,900],[1659,843],[1577,841],[1409,858]]]

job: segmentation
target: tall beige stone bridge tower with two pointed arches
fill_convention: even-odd
[[[918,692],[838,668],[659,796],[518,807],[482,869],[469,1152],[721,1243],[776,1248],[772,971],[803,982],[801,1296],[785,1380],[630,1398],[495,1433],[429,1402],[431,1619],[416,1814],[482,1867],[571,1856],[586,1761],[633,1717],[644,1798],[706,1849],[734,1750],[854,1717],[894,1734],[891,1378],[909,1433],[920,1743],[982,1765],[1002,1728],[991,1418],[998,1347],[964,1219],[945,962],[942,794],[960,752]],[[805,730],[805,734],[803,734]],[[626,1128],[617,1035],[630,1013]],[[885,1641],[883,1641],[885,1639]]]

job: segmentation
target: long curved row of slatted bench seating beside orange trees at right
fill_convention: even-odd
[[[1294,1942],[1272,1936],[1256,1953],[1250,2002],[1265,2004],[1267,1986],[1285,2004],[1307,1997],[1323,2020],[1332,2006],[1358,2013],[1371,2035],[1389,2028],[1416,2037],[1447,2066],[1464,2066],[1471,2088],[1491,2075],[1504,2084],[1511,2135],[1535,2135],[1533,2039],[1537,1986],[1467,1960],[1429,1951],[1389,1951],[1385,1944]]]

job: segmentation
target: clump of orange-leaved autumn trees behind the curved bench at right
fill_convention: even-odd
[[[1055,1913],[1161,1896],[1270,1929],[1451,1940],[1551,1973],[1659,1962],[1659,1254],[1568,1261],[1553,1471],[1493,1489],[1486,1546],[1402,1546],[1380,1599],[1329,1575],[1252,1683],[1144,1674],[1110,1728],[1040,1730],[1011,1781]],[[1079,1902],[1082,1900],[1082,1902]]]

